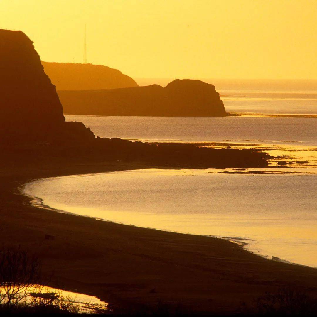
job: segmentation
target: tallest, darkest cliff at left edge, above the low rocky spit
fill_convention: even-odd
[[[82,123],[65,122],[55,86],[44,73],[33,42],[21,31],[3,29],[0,42],[0,142],[94,138]]]

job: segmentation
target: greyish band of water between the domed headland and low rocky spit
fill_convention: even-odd
[[[143,141],[239,141],[317,146],[317,118],[65,116],[99,137]],[[284,141],[284,142],[283,142]],[[287,142],[287,143],[288,143]]]

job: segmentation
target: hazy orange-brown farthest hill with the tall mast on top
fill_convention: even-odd
[[[113,89],[138,84],[120,70],[102,65],[42,61],[57,90]]]

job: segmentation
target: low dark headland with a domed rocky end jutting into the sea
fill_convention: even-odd
[[[226,116],[215,86],[176,79],[166,87],[58,91],[65,114],[125,116]]]

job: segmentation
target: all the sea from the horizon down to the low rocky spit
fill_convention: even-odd
[[[139,85],[167,85],[172,79],[137,79]],[[99,137],[146,141],[254,140],[280,144],[297,141],[317,146],[317,80],[203,79],[220,92],[226,111],[240,117],[116,117],[66,116],[82,121]],[[151,105],[149,105],[150,107]],[[250,114],[257,114],[252,116]],[[259,114],[280,117],[259,117]],[[314,118],[289,118],[282,114],[308,114]],[[251,140],[251,141],[250,141]]]

